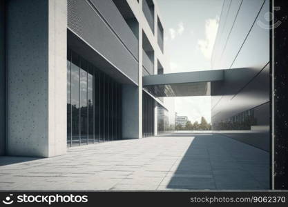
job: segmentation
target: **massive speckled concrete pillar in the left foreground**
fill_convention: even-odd
[[[8,155],[66,153],[66,0],[8,1]]]

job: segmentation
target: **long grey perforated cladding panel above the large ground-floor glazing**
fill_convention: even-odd
[[[109,5],[107,5],[109,6]],[[115,6],[115,5],[114,5]],[[115,17],[117,18],[117,17]],[[68,28],[138,83],[138,61],[88,1],[68,0]],[[105,70],[105,68],[99,68]]]

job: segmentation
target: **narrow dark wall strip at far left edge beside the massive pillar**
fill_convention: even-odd
[[[0,155],[5,153],[6,72],[5,72],[5,1],[0,2]]]

